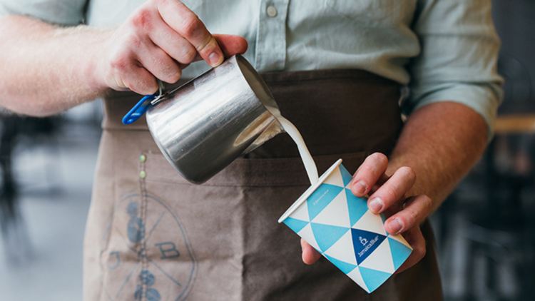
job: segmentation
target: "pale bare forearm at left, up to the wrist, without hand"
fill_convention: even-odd
[[[106,93],[96,56],[111,31],[59,28],[24,16],[0,18],[0,106],[31,116],[65,111]]]

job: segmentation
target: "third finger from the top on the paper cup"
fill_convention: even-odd
[[[427,195],[417,195],[409,199],[404,210],[392,215],[384,222],[388,233],[396,235],[407,229],[418,227],[431,213],[432,200]]]

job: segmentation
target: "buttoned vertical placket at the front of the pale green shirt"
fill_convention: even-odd
[[[286,63],[286,18],[290,0],[262,0],[258,18],[255,68],[282,71]]]

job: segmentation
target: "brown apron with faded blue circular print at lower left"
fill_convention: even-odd
[[[263,78],[320,174],[338,158],[354,172],[366,155],[392,150],[402,128],[396,83],[355,70]],[[426,257],[367,294],[325,258],[305,265],[300,238],[277,223],[310,185],[289,136],[193,185],[163,158],[144,120],[121,124],[138,99],[105,101],[84,300],[442,300],[429,223]]]

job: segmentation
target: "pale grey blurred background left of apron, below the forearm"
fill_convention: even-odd
[[[101,101],[61,116],[0,114],[0,300],[81,300]]]

